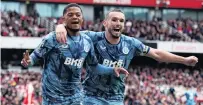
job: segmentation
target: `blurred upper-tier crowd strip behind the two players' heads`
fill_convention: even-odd
[[[34,12],[31,16],[23,16],[15,11],[1,11],[1,35],[41,37],[54,30],[56,24],[62,22],[56,18],[41,18]],[[103,31],[102,20],[85,21],[83,30]],[[161,41],[203,41],[203,20],[190,18],[162,20],[154,18],[151,21],[128,19],[125,22],[124,34],[147,40]]]

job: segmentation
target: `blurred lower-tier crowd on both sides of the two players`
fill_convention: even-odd
[[[185,105],[180,98],[188,89],[203,95],[203,70],[153,67],[130,68],[126,78],[125,105]],[[1,73],[1,104],[41,104],[41,73],[22,71]],[[29,88],[29,89],[28,89]],[[31,91],[31,92],[29,92]]]

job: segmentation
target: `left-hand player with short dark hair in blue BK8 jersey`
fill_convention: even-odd
[[[77,4],[69,4],[63,12],[67,26],[68,40],[60,44],[56,33],[51,32],[31,55],[24,53],[21,61],[25,67],[32,66],[38,60],[44,60],[42,74],[43,105],[82,104],[81,68],[87,63],[95,71],[93,74],[128,74],[123,68],[105,67],[98,64],[91,39],[80,33],[83,22],[82,10]]]

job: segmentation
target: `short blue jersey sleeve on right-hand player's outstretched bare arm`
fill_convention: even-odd
[[[143,44],[141,41],[133,38],[132,45],[135,47],[135,56],[144,56],[150,51],[150,47]]]

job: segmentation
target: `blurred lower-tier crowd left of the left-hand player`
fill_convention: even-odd
[[[1,72],[1,105],[41,105],[41,73]],[[31,104],[29,104],[31,105]]]

